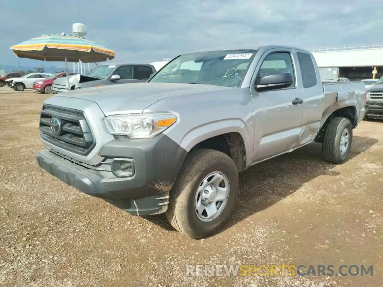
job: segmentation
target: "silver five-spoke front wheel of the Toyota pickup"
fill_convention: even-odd
[[[229,179],[221,171],[214,171],[200,183],[195,195],[195,213],[201,221],[216,219],[224,210],[229,198]]]

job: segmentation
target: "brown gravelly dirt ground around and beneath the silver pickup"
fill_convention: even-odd
[[[45,98],[0,88],[0,285],[381,286],[383,122],[360,123],[343,165],[311,144],[250,168],[229,222],[193,240],[41,170]],[[373,276],[191,276],[188,264],[364,264]]]

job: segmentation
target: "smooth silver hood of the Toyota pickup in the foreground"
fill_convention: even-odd
[[[109,116],[111,114],[142,113],[145,108],[155,102],[172,96],[227,89],[237,88],[178,83],[127,83],[72,90],[54,97],[93,101],[100,106],[106,116]]]

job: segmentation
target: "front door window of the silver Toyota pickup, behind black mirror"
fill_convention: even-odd
[[[293,78],[293,83],[288,88],[295,88],[294,65],[289,52],[276,52],[268,54],[259,68],[257,78],[280,73],[290,73]]]

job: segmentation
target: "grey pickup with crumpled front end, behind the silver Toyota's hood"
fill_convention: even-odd
[[[146,82],[155,68],[150,64],[113,64],[98,65],[88,75],[73,75],[69,77],[70,90],[126,83]],[[62,93],[68,90],[66,78],[54,80],[53,93]]]

